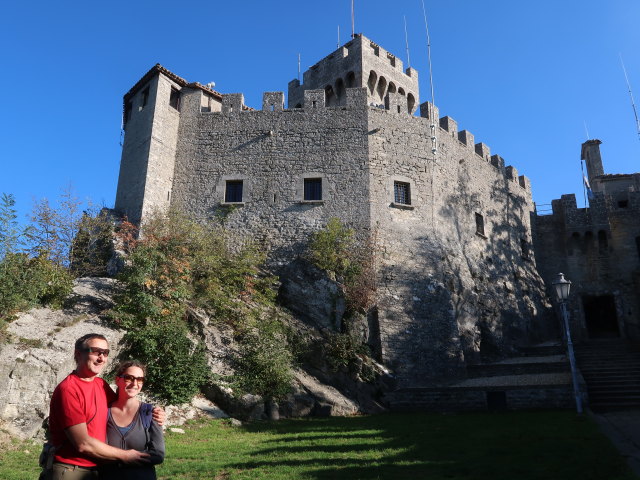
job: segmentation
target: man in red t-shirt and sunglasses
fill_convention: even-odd
[[[108,404],[115,393],[98,374],[107,364],[109,343],[100,334],[75,344],[76,369],[56,387],[49,413],[50,442],[56,447],[51,480],[98,478],[100,460],[145,462],[147,453],[121,450],[105,443]],[[162,417],[163,419],[163,417]]]

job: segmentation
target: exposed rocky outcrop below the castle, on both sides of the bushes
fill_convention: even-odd
[[[334,284],[329,281],[327,285],[332,291]],[[113,279],[77,279],[73,297],[68,302],[74,305],[72,308],[32,309],[9,324],[9,341],[0,345],[0,391],[3,392],[0,395],[0,432],[6,431],[19,438],[42,435],[51,394],[74,368],[73,346],[77,338],[93,332],[104,335],[113,352],[111,358],[115,358],[124,332],[114,330],[104,322],[104,314],[113,304],[111,295],[115,286]],[[238,353],[238,345],[231,327],[211,321],[202,311],[190,310],[189,314],[192,323],[197,325],[194,341],[204,342],[214,376],[224,378],[233,374],[232,359]],[[165,407],[167,425],[180,425],[201,416],[229,415],[251,421],[384,410],[376,401],[381,396],[380,382],[376,385],[365,383],[358,379],[357,371],[333,372],[329,368],[320,346],[332,329],[313,325],[308,318],[302,321],[294,316],[284,316],[310,346],[304,355],[303,368],[295,371],[293,389],[287,398],[276,403],[265,402],[260,396],[251,394],[238,397],[224,382],[218,382],[204,389],[205,398],[196,397],[191,404]],[[388,378],[383,370],[379,373],[381,378]]]

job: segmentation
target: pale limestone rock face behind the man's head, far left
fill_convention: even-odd
[[[79,337],[100,333],[117,354],[122,332],[105,327],[99,316],[111,303],[112,287],[111,279],[78,279],[72,309],[35,308],[9,324],[10,342],[0,346],[0,427],[19,438],[38,434],[53,390],[75,367]]]

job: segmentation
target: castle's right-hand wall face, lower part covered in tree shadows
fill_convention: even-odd
[[[434,157],[431,120],[400,111],[369,110],[371,217],[382,251],[383,358],[401,385],[419,385],[464,376],[467,363],[553,327],[529,252],[527,179],[449,117],[436,127]],[[433,106],[422,111],[437,119]],[[396,181],[409,184],[411,205],[394,202]]]

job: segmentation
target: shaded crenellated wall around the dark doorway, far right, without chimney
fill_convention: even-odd
[[[588,208],[577,208],[575,195],[563,195],[552,202],[552,215],[535,217],[541,276],[549,286],[558,272],[572,282],[570,323],[577,341],[596,334],[589,331],[584,299],[604,296],[613,297],[618,334],[640,338],[640,192],[626,190],[624,207],[619,193],[594,192]]]

